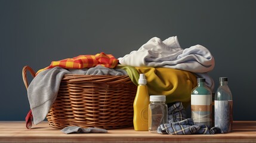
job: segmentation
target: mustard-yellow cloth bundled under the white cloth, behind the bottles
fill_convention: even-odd
[[[147,79],[149,95],[166,95],[166,103],[181,101],[190,104],[190,96],[196,87],[196,76],[190,71],[165,67],[135,67]],[[137,79],[138,80],[138,79]]]

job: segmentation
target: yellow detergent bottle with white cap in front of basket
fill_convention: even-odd
[[[140,74],[138,79],[137,94],[134,99],[134,130],[149,130],[148,123],[148,107],[149,107],[149,92],[147,92],[147,80],[145,74]]]

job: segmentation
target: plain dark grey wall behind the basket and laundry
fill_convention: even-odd
[[[23,66],[37,71],[102,51],[118,58],[154,36],[208,48],[215,84],[229,77],[234,119],[256,120],[256,1],[0,0],[0,18],[0,120],[24,120],[29,111]]]

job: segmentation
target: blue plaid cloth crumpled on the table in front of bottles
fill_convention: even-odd
[[[209,129],[206,125],[195,125],[192,119],[186,119],[182,102],[174,102],[168,108],[168,123],[158,127],[158,133],[171,135],[215,134],[224,133],[217,127]]]

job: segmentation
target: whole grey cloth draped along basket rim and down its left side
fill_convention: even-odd
[[[82,73],[90,75],[125,75],[125,70],[109,69],[103,66],[92,67],[88,70],[66,70],[61,67],[54,67],[41,71],[30,83],[27,88],[30,108],[33,114],[34,124],[42,122],[48,114],[48,111],[57,98],[58,89],[64,74]],[[27,124],[29,125],[29,124]]]

